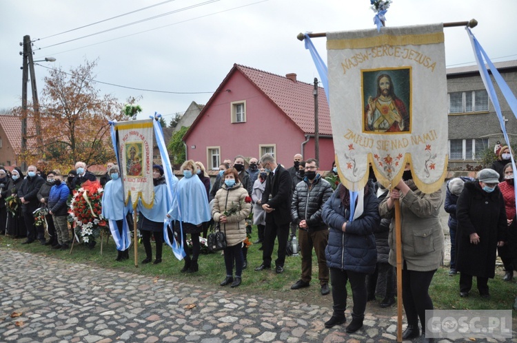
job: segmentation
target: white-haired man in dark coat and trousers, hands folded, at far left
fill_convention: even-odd
[[[30,165],[27,168],[27,177],[21,182],[18,189],[18,198],[21,200],[21,213],[23,220],[27,227],[27,240],[21,244],[30,244],[34,240],[39,239],[40,242],[45,242],[45,231],[43,225],[37,228],[34,225],[34,215],[32,214],[39,207],[37,194],[45,180],[36,174],[36,166]]]

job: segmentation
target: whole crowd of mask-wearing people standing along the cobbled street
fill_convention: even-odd
[[[170,199],[163,167],[154,165],[154,202],[147,206],[139,201],[136,207],[137,227],[145,248],[141,262],[162,262],[163,220],[169,217],[170,231],[183,242],[185,264],[181,271],[196,273],[201,236],[206,237],[208,227],[217,226],[226,240],[225,278],[220,285],[239,287],[247,268],[245,241],[250,225],[246,220],[252,214],[258,231],[254,243],[261,244],[262,251],[262,263],[254,271],[274,267],[275,273],[283,273],[291,240],[297,236],[301,276],[291,289],[310,286],[314,250],[321,294],[332,291],[334,302],[332,317],[325,327],[346,322],[346,284],[350,282],[352,321],[346,331],[353,333],[363,326],[368,301],[381,296],[381,307],[395,303],[394,207],[398,202],[402,223],[402,300],[407,318],[403,339],[413,339],[420,336],[419,324],[423,335],[425,311],[433,309],[429,285],[443,264],[445,247],[439,212],[444,200],[452,242],[449,275],[460,273],[460,297],[469,296],[472,278],[476,276],[480,297],[489,298],[488,279],[494,278],[497,253],[505,266],[505,280],[513,278],[517,266],[517,221],[510,154],[509,147],[502,147],[491,169],[478,171],[476,178],[449,180],[445,196],[441,190],[432,194],[420,191],[409,163],[393,189],[376,183],[374,174],[370,174],[366,187],[352,193],[343,184],[334,183],[338,179],[334,163],[330,178],[325,179],[318,160],[303,160],[301,154],[296,154],[292,167],[286,168],[266,154],[260,160],[247,161],[241,155],[224,160],[212,185],[203,163],[187,160],[181,166],[183,178],[178,180],[174,176],[171,180],[176,199]],[[87,181],[95,180],[97,177],[81,161],[64,176],[59,170],[45,171],[36,165],[30,165],[26,175],[17,167],[10,172],[0,167],[0,231],[13,238],[25,238],[22,244],[39,240],[52,249],[69,249],[73,237],[67,221],[70,195]],[[108,163],[101,185],[102,215],[116,222],[121,235],[128,209],[123,205],[118,165]],[[48,240],[45,226],[34,220],[38,209],[44,209],[41,213]],[[187,235],[192,249],[187,247]],[[156,249],[154,260],[151,237]],[[278,249],[273,260],[275,244]],[[94,246],[95,240],[88,242],[90,249]],[[119,251],[116,260],[128,258],[125,249]]]

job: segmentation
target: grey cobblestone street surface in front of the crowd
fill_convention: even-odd
[[[328,307],[219,285],[204,289],[12,250],[0,250],[0,273],[0,342],[396,342],[394,315],[367,313],[363,329],[349,335],[345,325],[325,329]],[[508,342],[517,342],[515,329]]]

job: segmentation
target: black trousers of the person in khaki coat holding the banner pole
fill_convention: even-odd
[[[402,270],[402,302],[407,317],[407,324],[425,330],[425,310],[433,309],[433,301],[429,296],[429,285],[436,269],[432,271],[409,271],[404,262]]]

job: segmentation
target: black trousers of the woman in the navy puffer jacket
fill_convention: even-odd
[[[356,316],[365,314],[366,309],[366,274],[356,271],[344,271],[338,268],[330,268],[330,282],[332,284],[332,309],[333,316],[344,318],[347,309],[347,280],[350,280],[352,300],[354,306],[352,313]]]

